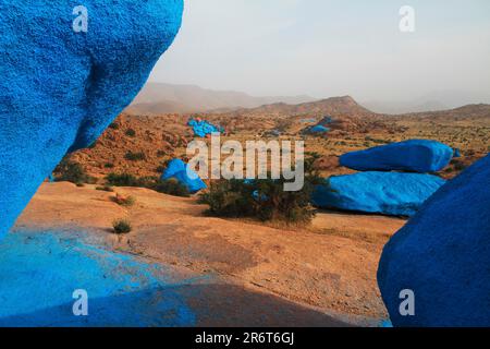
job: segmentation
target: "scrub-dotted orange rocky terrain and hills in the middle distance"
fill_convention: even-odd
[[[490,106],[475,105],[436,112],[384,116],[370,112],[351,97],[338,97],[302,105],[275,104],[230,112],[140,116],[123,113],[87,149],[74,153],[89,174],[103,178],[111,172],[159,176],[166,161],[185,157],[194,139],[187,121],[193,116],[222,125],[223,141],[304,140],[306,151],[320,155],[317,167],[323,174],[348,173],[338,165],[338,156],[376,145],[409,139],[428,139],[461,149],[442,176],[452,178],[481,158],[490,145]],[[332,116],[326,135],[304,135],[302,131]],[[133,133],[134,131],[134,133]],[[142,153],[138,160],[126,154]]]

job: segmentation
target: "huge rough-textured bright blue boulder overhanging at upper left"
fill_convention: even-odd
[[[183,11],[182,0],[83,4],[0,0],[0,236],[66,152],[133,100]]]

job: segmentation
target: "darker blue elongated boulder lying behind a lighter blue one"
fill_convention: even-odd
[[[344,154],[342,166],[357,171],[437,172],[449,165],[453,149],[445,144],[411,140]]]

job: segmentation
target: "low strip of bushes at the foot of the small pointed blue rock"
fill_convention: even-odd
[[[148,188],[163,194],[183,197],[191,196],[187,186],[174,179],[161,180],[158,177],[136,177],[130,173],[110,173],[106,177],[106,184],[112,186]]]

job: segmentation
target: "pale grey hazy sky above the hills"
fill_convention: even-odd
[[[154,82],[360,100],[490,96],[489,0],[185,2]],[[399,28],[402,5],[416,11],[415,33]]]

